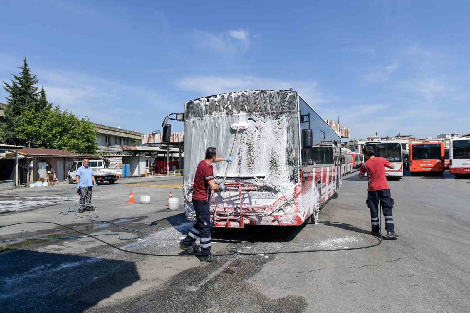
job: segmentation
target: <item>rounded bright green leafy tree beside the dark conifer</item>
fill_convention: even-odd
[[[37,148],[90,154],[98,148],[96,127],[89,119],[79,119],[68,110],[61,111],[59,106],[39,113],[24,111],[17,135],[22,141],[31,141],[31,146]]]

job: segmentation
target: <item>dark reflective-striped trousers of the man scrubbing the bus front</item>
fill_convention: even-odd
[[[196,211],[196,224],[184,238],[183,244],[190,245],[201,238],[201,252],[204,257],[211,255],[211,212],[209,211],[209,201],[193,200]]]

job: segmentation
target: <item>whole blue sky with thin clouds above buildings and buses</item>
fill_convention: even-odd
[[[27,57],[51,102],[141,133],[289,87],[351,137],[470,133],[469,1],[134,2],[0,0],[0,80]]]

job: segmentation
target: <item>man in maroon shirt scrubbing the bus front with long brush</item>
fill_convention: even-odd
[[[211,255],[211,212],[209,211],[209,200],[211,190],[224,190],[224,184],[214,182],[212,163],[232,162],[232,157],[217,157],[217,151],[213,147],[206,149],[205,159],[197,165],[194,175],[193,207],[196,211],[196,224],[189,231],[189,234],[180,243],[180,248],[188,250],[189,253],[201,255],[201,262],[219,262],[220,259]],[[196,238],[201,238],[201,251],[197,248]]]

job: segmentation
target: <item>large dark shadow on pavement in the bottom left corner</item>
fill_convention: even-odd
[[[133,262],[16,250],[2,254],[5,312],[83,312],[140,280]]]

